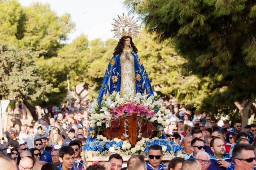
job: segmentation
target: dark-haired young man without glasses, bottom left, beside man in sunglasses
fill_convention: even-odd
[[[59,170],[75,170],[74,169],[74,160],[75,152],[74,149],[70,146],[64,146],[60,148],[60,162],[58,166]]]

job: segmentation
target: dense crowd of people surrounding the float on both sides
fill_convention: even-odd
[[[226,119],[220,127],[205,111],[189,111],[173,100],[164,105],[170,109],[166,139],[182,147],[181,155],[167,167],[158,145],[149,147],[147,162],[143,155],[131,155],[126,164],[120,154],[112,154],[108,162],[87,166],[80,154],[87,138],[90,101],[72,102],[61,109],[45,107],[40,119],[30,125],[7,125],[0,139],[0,163],[6,170],[256,170],[256,121],[242,131],[239,120],[230,127]]]

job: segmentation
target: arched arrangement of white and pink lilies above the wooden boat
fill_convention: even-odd
[[[102,100],[101,104],[97,99],[94,100],[92,107],[88,109],[90,127],[99,132],[108,128],[110,123],[119,117],[133,115],[136,111],[142,118],[151,122],[156,131],[162,131],[170,110],[162,106],[163,102],[158,101],[154,95],[148,97],[148,95],[142,96],[137,93],[133,97],[133,93],[131,91],[121,98],[120,93],[114,91],[105,100]]]

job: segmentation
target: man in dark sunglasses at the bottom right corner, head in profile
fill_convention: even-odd
[[[232,159],[235,164],[234,170],[253,170],[256,164],[253,147],[250,144],[236,144]]]

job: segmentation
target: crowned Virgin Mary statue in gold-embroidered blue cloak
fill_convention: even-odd
[[[153,94],[148,74],[138,57],[138,49],[132,42],[132,39],[138,38],[140,26],[133,18],[124,15],[118,16],[114,21],[112,31],[119,41],[113,53],[114,57],[110,60],[104,74],[98,96],[99,104],[113,91],[120,92],[121,96],[132,91],[133,97],[138,92],[148,96]]]

